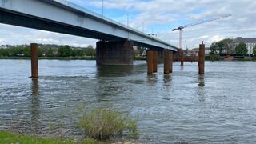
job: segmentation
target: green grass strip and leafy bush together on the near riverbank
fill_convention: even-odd
[[[0,130],[0,143],[111,143],[118,138],[138,138],[138,122],[129,118],[129,113],[122,113],[112,107],[90,108],[82,106],[78,109],[82,112],[82,118],[78,127],[84,132],[86,139],[38,138],[24,134],[10,133]]]

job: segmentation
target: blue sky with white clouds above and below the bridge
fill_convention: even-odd
[[[103,14],[107,18],[146,34],[179,45],[178,26],[230,17],[189,26],[182,30],[182,48],[192,49],[204,41],[206,47],[224,38],[256,38],[255,0],[69,0],[78,6]],[[103,4],[103,5],[102,5]],[[103,10],[103,11],[102,11]],[[95,47],[97,39],[82,38],[43,30],[0,24],[0,45],[58,44]]]

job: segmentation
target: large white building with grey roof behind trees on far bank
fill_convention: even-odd
[[[247,54],[253,54],[254,50],[254,46],[256,45],[256,38],[242,38],[242,37],[238,37],[233,39],[232,42],[232,48],[233,50],[235,49],[236,46],[238,46],[239,43],[244,42],[247,46]]]

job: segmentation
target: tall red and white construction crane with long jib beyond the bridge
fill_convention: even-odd
[[[199,21],[199,22],[190,23],[188,25],[179,26],[178,28],[173,29],[172,31],[179,30],[179,48],[182,49],[182,29],[189,27],[189,26],[195,26],[195,25],[199,25],[202,23],[206,23],[206,22],[212,22],[212,21],[215,21],[215,20],[218,20],[221,18],[230,17],[230,16],[231,16],[231,14],[225,14],[225,15],[219,16],[218,18],[210,18],[210,19]]]

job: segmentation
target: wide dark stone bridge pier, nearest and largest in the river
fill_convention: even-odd
[[[133,65],[134,43],[132,41],[96,43],[97,65]]]

